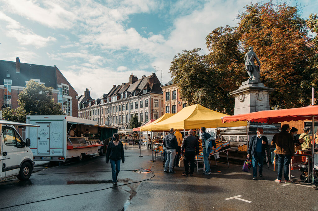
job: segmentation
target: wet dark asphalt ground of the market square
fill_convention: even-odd
[[[105,156],[47,169],[44,163],[38,166],[44,170],[32,174],[28,181],[12,179],[0,183],[0,208],[64,196],[1,210],[318,210],[318,190],[274,182],[277,173],[273,166],[264,168],[264,177],[257,181],[251,180],[251,171],[245,173],[240,166],[227,168],[225,164],[211,166],[211,175],[195,170],[194,177],[183,177],[183,169],[164,174],[159,158],[152,163],[151,156],[139,158],[138,153],[125,150],[126,161],[121,170],[128,171],[120,172],[118,185],[127,185],[113,187]],[[145,150],[142,154],[150,153]],[[150,167],[154,174],[132,171]],[[298,170],[292,174],[300,175]],[[128,184],[131,182],[137,183]],[[105,188],[108,189],[100,190]],[[89,191],[95,192],[80,194]],[[69,194],[78,195],[65,196]],[[225,200],[237,195],[252,202]]]

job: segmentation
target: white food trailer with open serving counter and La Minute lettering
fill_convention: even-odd
[[[98,126],[96,121],[65,115],[27,116],[30,149],[34,160],[65,161],[69,158],[82,160],[85,155],[106,152],[103,140],[117,133],[116,128]],[[76,130],[73,129],[76,127]]]

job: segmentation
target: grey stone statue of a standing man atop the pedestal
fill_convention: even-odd
[[[259,79],[259,71],[260,71],[260,62],[259,59],[256,56],[256,53],[253,51],[253,47],[248,48],[248,52],[245,54],[244,60],[245,60],[245,70],[247,71],[247,74],[250,78],[248,80],[252,79]],[[254,59],[256,59],[257,64],[259,66],[254,65]]]

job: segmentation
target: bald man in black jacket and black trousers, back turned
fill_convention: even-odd
[[[189,135],[184,137],[181,145],[181,154],[184,150],[184,168],[185,172],[182,176],[188,176],[189,174],[189,161],[190,161],[190,176],[193,176],[194,172],[194,157],[199,154],[199,141],[192,135],[193,130],[189,130]]]

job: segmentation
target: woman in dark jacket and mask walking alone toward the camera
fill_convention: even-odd
[[[118,133],[114,133],[113,140],[109,142],[106,151],[106,163],[110,161],[114,185],[117,185],[117,176],[120,171],[120,160],[122,163],[125,162],[124,146],[119,140]]]

